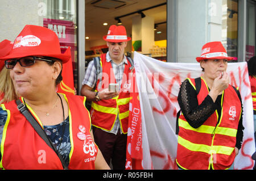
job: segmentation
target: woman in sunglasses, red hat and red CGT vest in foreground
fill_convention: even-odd
[[[1,169],[109,169],[90,131],[86,98],[56,92],[69,58],[55,32],[33,25],[0,58],[21,96],[0,107]]]

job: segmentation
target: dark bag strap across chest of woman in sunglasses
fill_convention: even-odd
[[[55,146],[52,144],[51,140],[49,140],[49,137],[46,135],[46,132],[43,131],[42,127],[39,125],[38,121],[35,120],[35,118],[31,115],[30,112],[28,112],[27,107],[18,99],[16,100],[16,104],[18,105],[17,108],[22,113],[26,119],[30,122],[32,127],[35,129],[35,131],[39,134],[39,136],[46,142],[46,144],[55,151],[55,153],[60,158],[60,161],[62,163],[62,166],[65,170],[68,170],[68,166],[64,162],[62,156],[57,152]]]

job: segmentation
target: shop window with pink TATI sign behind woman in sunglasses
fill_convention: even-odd
[[[74,84],[77,89],[77,5],[76,0],[42,0],[46,7],[43,26],[59,37],[61,53],[71,47]]]

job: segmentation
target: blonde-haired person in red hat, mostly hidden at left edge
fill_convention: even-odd
[[[6,56],[13,48],[13,43],[9,40],[0,42],[0,57]],[[10,102],[18,98],[14,89],[13,82],[11,81],[8,69],[3,69],[5,66],[4,61],[0,61],[0,104]]]

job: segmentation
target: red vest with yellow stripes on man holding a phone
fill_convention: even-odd
[[[100,81],[97,80],[97,86],[95,91],[107,88],[109,86],[109,83],[117,83],[117,81],[115,80],[111,62],[106,61],[106,54],[101,55],[101,65],[102,86],[98,87]],[[118,96],[108,100],[92,102],[90,114],[92,117],[92,125],[94,127],[110,131],[114,126],[115,120],[117,119],[117,115],[119,115],[122,133],[127,133],[131,88],[131,81],[129,77],[131,77],[132,75],[131,70],[129,70],[130,67],[131,64],[128,61],[128,65],[125,64],[122,85],[120,87],[120,92]]]

